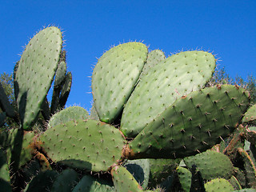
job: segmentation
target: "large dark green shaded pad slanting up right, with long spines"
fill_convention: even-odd
[[[129,143],[127,158],[182,158],[210,149],[238,126],[247,94],[223,85],[179,98]]]

